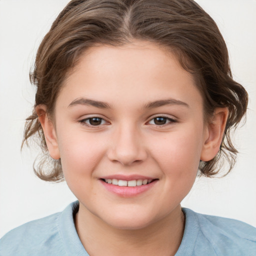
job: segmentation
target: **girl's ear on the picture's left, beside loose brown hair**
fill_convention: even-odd
[[[46,141],[50,156],[53,159],[59,159],[60,154],[59,154],[59,149],[58,149],[56,131],[55,131],[52,121],[50,120],[50,118],[47,114],[46,109],[47,108],[45,105],[39,104],[35,107],[35,112],[36,112],[38,119],[41,123],[45,141]]]

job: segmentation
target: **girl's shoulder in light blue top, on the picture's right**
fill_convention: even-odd
[[[242,221],[196,213],[183,208],[190,224],[197,226],[194,250],[204,248],[210,255],[256,255],[256,228]],[[206,246],[207,244],[207,246]]]

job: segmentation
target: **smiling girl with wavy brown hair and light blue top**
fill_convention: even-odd
[[[213,176],[245,89],[214,21],[192,0],[72,0],[37,51],[24,142],[44,180],[78,201],[0,240],[0,255],[253,255],[255,228],[180,202]],[[51,161],[51,167],[46,164]]]

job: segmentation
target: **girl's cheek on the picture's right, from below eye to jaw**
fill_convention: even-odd
[[[159,168],[164,179],[162,202],[167,210],[179,204],[188,194],[196,178],[200,160],[200,142],[193,134],[170,136],[155,151]]]

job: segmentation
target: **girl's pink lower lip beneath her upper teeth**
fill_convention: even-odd
[[[118,186],[106,183],[105,181],[99,179],[101,184],[110,192],[117,194],[122,197],[132,197],[139,195],[147,190],[149,190],[156,182],[156,180],[151,181],[148,184],[140,186]]]

